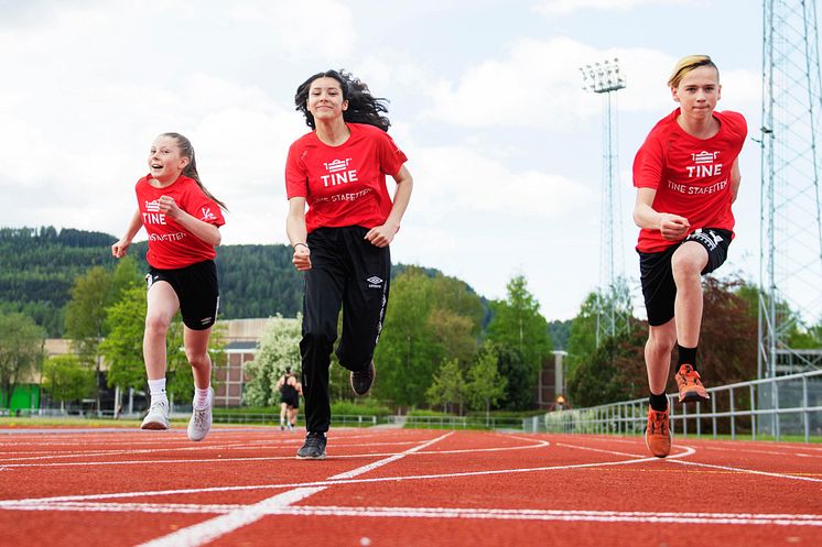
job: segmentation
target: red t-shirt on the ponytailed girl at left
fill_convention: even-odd
[[[155,188],[149,179],[151,175],[145,175],[134,188],[137,206],[149,234],[149,252],[145,254],[149,264],[160,270],[174,270],[213,260],[217,254],[214,247],[160,212],[156,200],[161,196],[171,196],[185,212],[215,226],[226,223],[219,206],[203,193],[196,180],[187,176],[181,175],[165,188]]]

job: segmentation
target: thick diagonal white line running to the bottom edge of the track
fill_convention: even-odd
[[[381,466],[404,458],[409,453],[413,453],[418,450],[422,450],[423,448],[428,448],[434,442],[437,442],[451,435],[453,435],[453,431],[441,435],[435,439],[431,439],[426,442],[423,442],[422,445],[410,448],[404,452],[391,456],[390,458],[375,461],[372,463],[359,467],[345,473],[336,474],[334,477],[331,477],[328,481],[329,483],[336,483],[340,480],[350,479],[353,477],[357,477],[358,474],[366,473]],[[269,510],[286,507],[301,500],[304,500],[305,497],[309,497],[312,494],[321,492],[326,488],[328,486],[324,485],[314,488],[298,488],[289,492],[283,492],[282,494],[274,495],[261,502],[255,503],[253,505],[248,505],[246,507],[232,511],[209,521],[205,521],[203,523],[179,529],[166,536],[162,536],[151,541],[141,544],[138,547],[198,547],[262,518],[263,516],[266,516],[267,511]]]

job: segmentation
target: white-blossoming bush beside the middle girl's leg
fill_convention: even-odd
[[[250,406],[273,406],[280,403],[277,381],[290,368],[293,373],[300,371],[300,339],[302,338],[302,317],[285,319],[272,317],[260,338],[259,349],[253,361],[244,368],[249,376],[244,395]]]

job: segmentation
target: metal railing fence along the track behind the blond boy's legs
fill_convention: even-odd
[[[671,431],[682,436],[728,435],[810,442],[822,436],[822,371],[710,387],[710,403],[674,405],[668,394]],[[681,409],[681,411],[680,411]],[[645,431],[648,400],[555,411],[526,420],[524,429],[549,433],[638,435]]]

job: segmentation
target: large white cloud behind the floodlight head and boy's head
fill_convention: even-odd
[[[627,87],[614,94],[623,112],[655,116],[675,107],[667,81],[677,57],[659,50],[597,50],[567,37],[522,40],[502,58],[469,68],[456,81],[432,81],[422,89],[433,100],[423,117],[463,128],[524,128],[578,132],[602,116],[601,97],[582,89],[580,67],[618,58]],[[759,100],[759,74],[723,72],[734,102],[753,108]],[[418,78],[419,80],[419,78]]]

